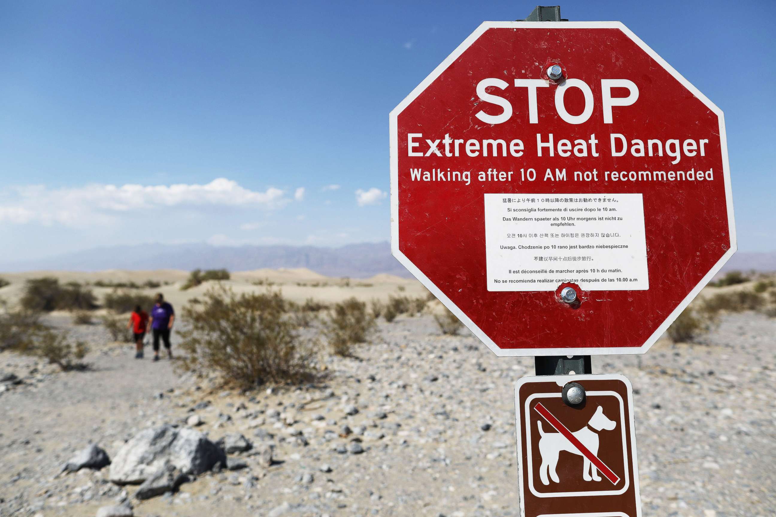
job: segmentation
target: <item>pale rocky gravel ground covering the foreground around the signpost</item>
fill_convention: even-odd
[[[327,358],[320,383],[248,395],[178,376],[166,360],[133,360],[100,326],[71,332],[92,346],[94,370],[0,355],[0,370],[23,379],[0,392],[3,517],[95,515],[131,497],[137,488],[110,484],[107,469],[61,467],[88,443],[113,457],[138,430],[192,415],[211,439],[274,444],[275,464],[246,453],[247,468],[133,501],[134,515],[519,514],[513,385],[533,362],[497,358],[467,331],[441,336],[430,316],[381,322],[357,357]],[[645,517],[776,515],[774,334],[776,320],[744,313],[702,343],[594,357],[594,372],[625,374],[636,390]]]

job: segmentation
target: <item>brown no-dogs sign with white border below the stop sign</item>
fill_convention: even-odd
[[[584,402],[561,391],[580,384]],[[630,381],[524,377],[514,388],[522,517],[640,517]]]

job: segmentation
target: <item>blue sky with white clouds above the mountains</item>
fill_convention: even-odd
[[[0,258],[388,240],[388,113],[480,22],[534,5],[3,2]],[[624,22],[719,105],[739,249],[776,249],[776,3],[562,14]]]

